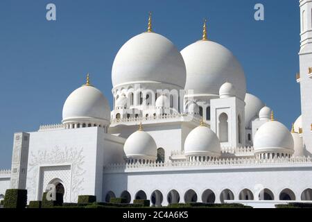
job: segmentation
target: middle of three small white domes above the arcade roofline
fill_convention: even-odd
[[[206,126],[198,126],[191,130],[185,139],[184,154],[220,157],[221,148],[217,135]]]

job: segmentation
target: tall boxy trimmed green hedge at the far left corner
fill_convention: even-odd
[[[7,189],[3,202],[4,208],[25,208],[27,204],[26,189]]]

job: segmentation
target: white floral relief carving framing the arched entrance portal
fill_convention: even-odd
[[[71,201],[76,202],[78,199],[78,194],[83,191],[83,182],[85,181],[83,175],[85,174],[85,169],[83,169],[84,156],[83,148],[79,150],[77,148],[55,148],[51,150],[37,151],[37,153],[30,153],[28,164],[28,177],[27,183],[28,194],[32,198],[36,198],[37,193],[37,181],[40,171],[40,166],[52,166],[55,164],[71,164]]]

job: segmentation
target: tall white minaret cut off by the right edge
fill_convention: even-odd
[[[300,83],[304,148],[312,153],[312,1],[300,0]]]

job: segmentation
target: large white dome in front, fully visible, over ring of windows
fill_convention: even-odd
[[[112,84],[164,83],[184,88],[186,69],[181,53],[166,37],[141,33],[128,40],[112,66]]]

